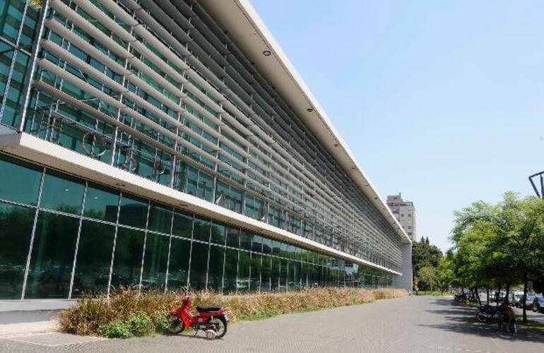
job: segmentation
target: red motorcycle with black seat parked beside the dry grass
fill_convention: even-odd
[[[191,296],[182,296],[182,306],[172,309],[169,314],[170,333],[182,333],[186,328],[192,328],[196,333],[206,331],[208,338],[221,338],[227,333],[227,308],[225,306],[196,306],[199,316],[191,314]]]

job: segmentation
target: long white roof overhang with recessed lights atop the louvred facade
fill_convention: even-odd
[[[228,31],[230,39],[290,104],[293,111],[314,133],[324,148],[331,153],[336,162],[384,215],[402,241],[411,243],[410,237],[384,203],[372,181],[355,159],[353,152],[336,131],[331,119],[304,83],[280,44],[266,28],[249,0],[200,0],[199,2],[214,20]]]

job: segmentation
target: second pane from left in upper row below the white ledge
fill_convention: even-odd
[[[81,181],[47,170],[40,207],[79,215],[84,190],[85,184]]]

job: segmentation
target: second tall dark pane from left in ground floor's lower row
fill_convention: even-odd
[[[40,212],[25,298],[68,298],[78,228],[78,218]]]

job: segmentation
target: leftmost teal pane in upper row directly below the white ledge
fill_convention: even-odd
[[[0,198],[36,205],[40,191],[42,168],[0,155]]]

